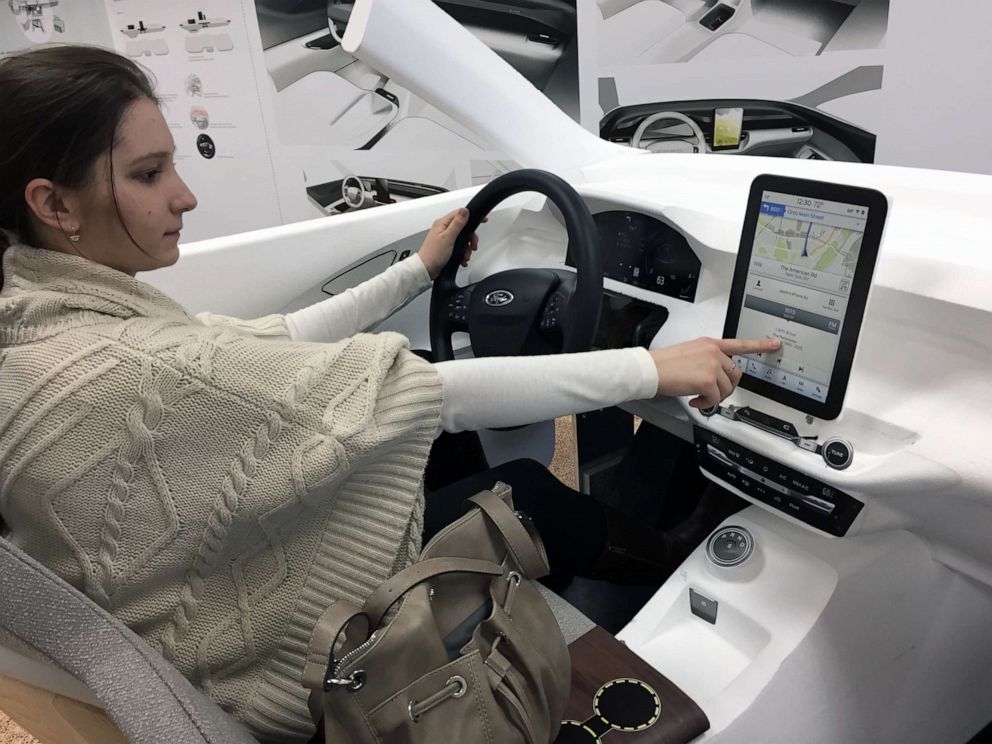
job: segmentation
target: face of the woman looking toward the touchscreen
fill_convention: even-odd
[[[132,275],[176,262],[183,213],[196,207],[196,197],[176,172],[174,150],[158,106],[147,98],[132,103],[117,129],[113,162],[110,152],[98,159],[89,186],[73,195],[80,254]]]

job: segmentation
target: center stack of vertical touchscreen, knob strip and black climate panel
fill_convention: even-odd
[[[693,427],[699,465],[711,479],[835,537],[847,534],[864,505],[809,471],[847,469],[855,445],[837,437],[820,442],[800,429],[837,419],[843,408],[887,206],[882,194],[860,187],[754,180],[723,335],[775,337],[782,346],[735,356],[739,387],[754,394],[752,403],[704,410]],[[709,417],[734,427],[707,426]],[[784,439],[808,453],[807,472],[742,446],[736,426],[738,439]]]

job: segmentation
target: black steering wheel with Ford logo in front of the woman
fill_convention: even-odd
[[[511,269],[459,287],[458,265],[472,233],[504,199],[544,194],[561,212],[575,273]],[[488,183],[468,203],[468,223],[451,259],[434,280],[430,334],[434,361],[454,359],[451,334],[465,331],[476,357],[556,354],[592,347],[603,295],[603,263],[592,215],[575,189],[541,170],[518,170]]]

